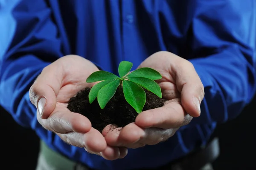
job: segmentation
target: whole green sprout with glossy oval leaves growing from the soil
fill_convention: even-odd
[[[133,63],[122,61],[118,67],[119,76],[107,71],[93,72],[86,80],[87,83],[101,81],[95,84],[89,92],[90,104],[97,98],[101,109],[104,109],[116,93],[116,89],[123,90],[125,100],[137,113],[142,112],[146,102],[146,93],[143,88],[162,98],[160,86],[155,82],[162,78],[154,69],[143,67],[133,72]],[[128,74],[129,73],[129,74]],[[143,88],[142,88],[143,87]]]

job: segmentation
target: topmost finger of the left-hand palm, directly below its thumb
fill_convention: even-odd
[[[61,104],[57,104],[49,118],[41,119],[38,112],[37,118],[45,129],[54,133],[87,133],[91,129],[91,123],[88,118],[79,113],[70,112]]]

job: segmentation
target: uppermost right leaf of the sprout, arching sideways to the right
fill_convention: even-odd
[[[130,74],[126,76],[127,78],[130,77],[143,77],[143,78],[149,78],[151,80],[159,80],[162,78],[162,75],[160,75],[159,72],[157,72],[154,69],[143,67],[137,70],[134,70]]]

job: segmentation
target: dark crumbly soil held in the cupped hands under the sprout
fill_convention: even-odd
[[[72,112],[77,112],[87,117],[91,121],[92,127],[95,129],[102,132],[104,127],[108,124],[116,124],[118,127],[124,127],[135,121],[138,113],[127,103],[122,90],[117,89],[115,95],[104,109],[99,107],[97,98],[92,104],[89,103],[89,92],[90,88],[86,88],[75,97],[70,98],[67,108]],[[147,100],[143,111],[162,107],[166,101],[148,90],[145,90],[145,92]]]

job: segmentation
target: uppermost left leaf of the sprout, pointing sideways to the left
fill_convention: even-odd
[[[93,72],[91,75],[89,75],[86,82],[93,83],[96,81],[116,79],[116,78],[119,78],[119,77],[117,75],[112,74],[111,72],[97,71],[97,72]]]

